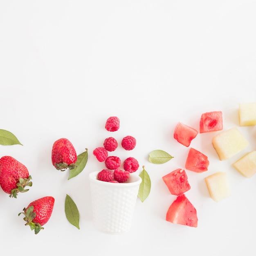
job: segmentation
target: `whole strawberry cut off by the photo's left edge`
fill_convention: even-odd
[[[27,167],[11,156],[0,158],[0,186],[2,190],[17,198],[19,192],[27,192],[25,186],[32,186],[31,176]]]

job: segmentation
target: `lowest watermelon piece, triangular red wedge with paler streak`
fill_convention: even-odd
[[[190,227],[198,226],[197,212],[184,194],[178,195],[166,213],[166,220]]]

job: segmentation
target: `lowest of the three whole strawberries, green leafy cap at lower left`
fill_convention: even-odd
[[[41,229],[44,229],[42,226],[48,222],[52,215],[54,201],[52,196],[39,198],[31,202],[18,216],[24,214],[23,220],[26,221],[25,225],[29,225],[30,229],[34,230],[35,234],[38,234]]]

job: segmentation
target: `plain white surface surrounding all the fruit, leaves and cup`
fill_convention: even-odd
[[[239,127],[238,104],[256,101],[256,2],[249,0],[0,1],[0,128],[23,146],[0,146],[0,154],[25,164],[33,186],[18,198],[0,191],[0,246],[57,255],[255,255],[256,176],[245,178],[231,164],[256,148],[256,128]],[[205,173],[186,171],[186,196],[198,212],[198,227],[174,225],[165,214],[175,196],[162,176],[184,168],[189,148],[173,139],[178,121],[199,129],[203,112],[221,110],[223,130],[237,126],[250,141],[243,152],[220,161],[215,133],[198,134],[191,146],[208,156]],[[108,117],[120,119],[115,133]],[[132,135],[131,152],[152,187],[136,204],[125,234],[108,235],[92,224],[88,174],[104,168],[92,151],[106,137]],[[52,144],[70,139],[88,163],[78,176],[57,171]],[[154,165],[148,153],[174,156]],[[214,202],[204,177],[225,171],[231,197]],[[66,194],[80,213],[80,229],[65,217]],[[52,195],[54,211],[35,235],[18,213],[32,200]],[[50,248],[50,249],[49,249]],[[42,252],[43,253],[43,252]]]

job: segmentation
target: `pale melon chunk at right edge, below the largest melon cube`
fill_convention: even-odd
[[[256,173],[256,150],[238,159],[233,166],[245,177],[252,177]]]

